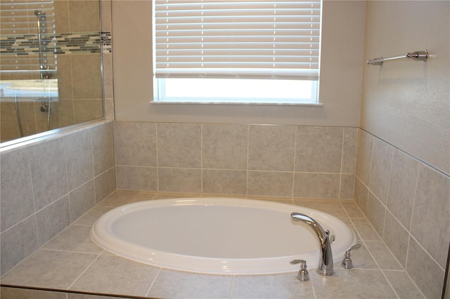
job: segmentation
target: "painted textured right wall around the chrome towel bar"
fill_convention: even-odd
[[[450,173],[450,1],[368,1],[366,59],[427,49],[427,62],[364,67],[361,128]]]

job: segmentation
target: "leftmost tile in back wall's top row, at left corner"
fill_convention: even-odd
[[[114,142],[117,165],[156,166],[156,124],[116,122]]]

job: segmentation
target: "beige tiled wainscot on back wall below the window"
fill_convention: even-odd
[[[352,199],[356,128],[115,122],[117,187]]]

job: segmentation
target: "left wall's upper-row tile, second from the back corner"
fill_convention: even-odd
[[[94,178],[91,132],[81,131],[64,138],[69,190]]]

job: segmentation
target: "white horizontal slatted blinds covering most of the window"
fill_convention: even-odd
[[[155,0],[155,77],[319,78],[321,0]]]

